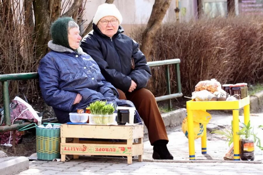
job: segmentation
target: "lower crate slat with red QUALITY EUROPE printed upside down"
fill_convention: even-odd
[[[116,145],[116,144],[81,144],[81,143],[61,143],[60,153],[68,155],[142,155],[143,145],[136,144]]]

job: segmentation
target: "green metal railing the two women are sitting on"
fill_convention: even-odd
[[[156,101],[163,101],[163,100],[169,100],[168,108],[172,108],[172,102],[171,99],[182,97],[181,92],[181,79],[180,79],[180,67],[179,67],[180,59],[171,59],[171,60],[163,60],[163,61],[153,61],[148,62],[147,64],[150,67],[156,67],[156,66],[166,66],[166,84],[167,84],[167,95],[155,97]],[[169,75],[169,65],[170,64],[176,64],[176,80],[177,80],[177,93],[171,94],[171,87],[170,87],[170,75]],[[4,121],[5,126],[0,126],[0,133],[1,132],[7,132],[7,131],[13,131],[20,129],[28,124],[29,122],[25,122],[22,124],[13,124],[11,125],[10,120],[10,108],[9,108],[9,92],[8,92],[8,81],[14,81],[14,80],[30,80],[30,79],[37,79],[38,73],[20,73],[20,74],[4,74],[0,75],[0,81],[2,83],[2,97],[3,97],[3,104],[4,104]]]

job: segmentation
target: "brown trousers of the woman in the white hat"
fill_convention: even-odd
[[[120,94],[119,99],[130,100],[135,105],[148,129],[151,145],[157,140],[168,141],[165,125],[152,92],[144,88],[126,93],[117,90]]]

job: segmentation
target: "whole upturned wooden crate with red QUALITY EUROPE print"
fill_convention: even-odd
[[[65,155],[118,155],[127,156],[128,164],[132,163],[132,156],[138,155],[142,162],[143,155],[143,125],[135,126],[103,126],[103,125],[67,125],[60,128],[60,154],[61,161]],[[73,138],[73,143],[66,143],[66,138]],[[108,141],[82,141],[79,138],[95,139],[123,139],[127,142]],[[139,143],[133,143],[139,139]]]

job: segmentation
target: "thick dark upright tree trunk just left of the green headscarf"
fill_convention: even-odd
[[[36,57],[43,57],[47,53],[47,42],[49,37],[49,3],[46,0],[33,1],[35,16],[35,38],[36,38]]]

